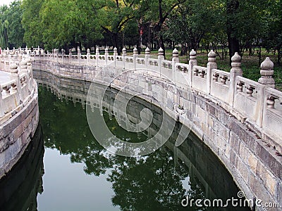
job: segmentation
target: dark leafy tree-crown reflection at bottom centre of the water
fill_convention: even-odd
[[[161,148],[166,151],[166,148]],[[189,194],[203,198],[202,188],[190,184],[191,190],[183,187],[188,177],[185,167],[176,166],[169,152],[157,151],[146,158],[122,158],[109,175],[114,188],[114,205],[121,210],[184,210],[183,196]]]

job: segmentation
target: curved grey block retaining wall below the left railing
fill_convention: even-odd
[[[37,84],[34,94],[18,113],[0,125],[0,179],[18,162],[39,122]]]

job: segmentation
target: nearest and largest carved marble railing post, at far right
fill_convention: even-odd
[[[256,119],[257,125],[262,127],[262,122],[264,119],[264,114],[266,113],[266,108],[274,108],[274,99],[270,96],[266,96],[265,89],[275,88],[275,81],[273,78],[274,75],[274,63],[270,60],[269,57],[266,57],[264,62],[260,66],[260,75],[259,78],[259,87],[257,88],[257,110],[256,110]]]

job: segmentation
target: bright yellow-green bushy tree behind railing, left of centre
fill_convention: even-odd
[[[76,45],[87,49],[93,46],[102,34],[98,18],[90,16],[87,10],[84,1],[44,2],[40,10],[44,46],[47,49],[68,49]]]

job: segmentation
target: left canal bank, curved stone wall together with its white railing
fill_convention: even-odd
[[[37,83],[30,58],[0,55],[0,179],[21,158],[39,122]]]

